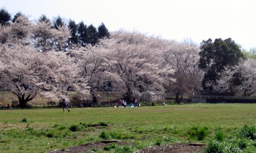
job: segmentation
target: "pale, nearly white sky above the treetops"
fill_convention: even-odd
[[[120,28],[178,41],[231,37],[249,50],[256,46],[256,0],[0,0],[12,15],[20,11],[31,20],[84,21],[109,31]]]

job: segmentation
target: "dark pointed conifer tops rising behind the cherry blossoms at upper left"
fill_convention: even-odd
[[[11,22],[14,23],[19,16],[22,16],[21,12],[17,12],[13,17],[11,14],[4,8],[0,9],[0,24],[2,26],[8,26]],[[98,28],[94,27],[92,24],[87,26],[83,21],[80,23],[75,23],[74,20],[69,19],[66,21],[57,16],[52,21],[42,14],[39,19],[39,22],[45,22],[51,24],[51,28],[59,29],[60,27],[66,26],[70,30],[71,37],[68,39],[68,45],[80,45],[85,46],[86,44],[95,45],[99,42],[101,38],[109,38],[110,32],[104,25],[101,23]]]

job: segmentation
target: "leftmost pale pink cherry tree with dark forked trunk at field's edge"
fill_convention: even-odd
[[[38,93],[48,98],[66,98],[78,76],[74,59],[65,52],[42,53],[31,46],[0,46],[0,90],[10,91],[25,107]]]

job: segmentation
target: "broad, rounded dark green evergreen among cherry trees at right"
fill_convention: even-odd
[[[202,80],[203,87],[216,83],[218,74],[225,71],[226,66],[237,65],[239,59],[243,57],[239,46],[231,38],[225,40],[219,38],[214,42],[211,39],[203,40],[200,49],[198,67],[206,72]]]

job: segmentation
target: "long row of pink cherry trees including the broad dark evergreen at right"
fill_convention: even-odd
[[[232,88],[255,95],[256,62],[245,59],[231,39],[208,39],[199,47],[190,40],[118,30],[109,39],[84,46],[73,45],[71,37],[66,26],[52,28],[47,21],[34,23],[24,15],[3,24],[0,90],[17,95],[21,107],[37,94],[68,100],[69,90],[95,99],[96,91],[110,86],[127,101],[160,99],[170,91],[179,103],[183,93],[196,93],[202,85],[216,92],[230,93]]]

